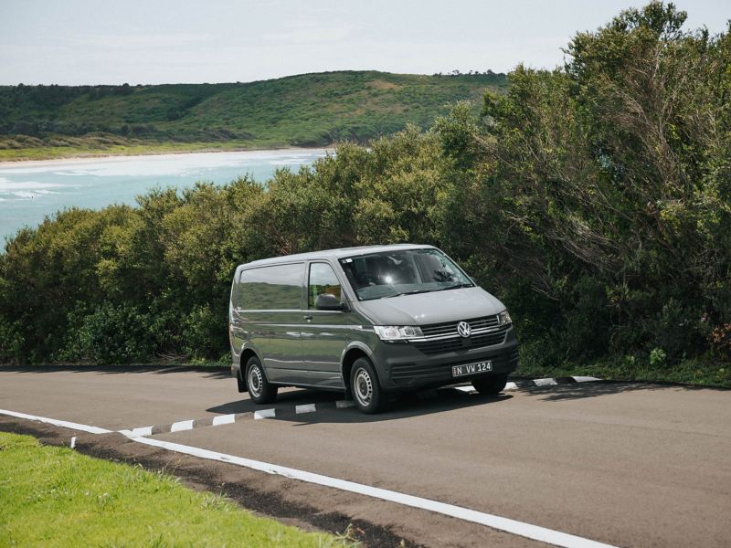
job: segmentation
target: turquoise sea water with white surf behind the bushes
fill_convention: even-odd
[[[0,238],[66,207],[134,205],[155,186],[185,188],[196,181],[225,184],[250,174],[265,181],[280,167],[296,171],[324,149],[186,153],[0,165]]]

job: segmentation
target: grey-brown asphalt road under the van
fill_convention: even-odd
[[[296,415],[340,396],[281,392],[277,417],[155,435],[348,479],[620,546],[731,545],[731,391],[588,383],[405,397],[379,416]],[[0,409],[112,430],[246,413],[224,372],[0,369]],[[137,444],[139,445],[139,444]],[[205,464],[203,466],[214,466]],[[285,501],[426,545],[538,544],[484,526],[293,480],[248,479]]]

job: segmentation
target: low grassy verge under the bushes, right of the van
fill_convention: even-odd
[[[617,381],[650,381],[731,388],[729,364],[702,359],[685,360],[673,366],[625,359],[588,365],[561,364],[556,367],[535,365],[525,360],[521,361],[515,374],[533,378],[577,374]]]

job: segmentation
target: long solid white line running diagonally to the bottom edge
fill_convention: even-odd
[[[482,525],[492,527],[493,529],[511,532],[543,543],[555,544],[556,546],[563,546],[565,548],[609,548],[610,546],[609,544],[598,543],[566,532],[554,531],[552,529],[546,529],[546,527],[540,527],[539,525],[532,525],[530,523],[517,522],[509,518],[502,518],[493,514],[470,510],[469,508],[463,508],[461,506],[455,506],[445,502],[423,499],[421,497],[415,497],[413,495],[407,495],[393,490],[371,487],[369,485],[355,483],[345,479],[330,478],[329,476],[322,476],[320,474],[314,474],[313,472],[306,472],[304,470],[269,464],[259,460],[252,460],[250,458],[218,453],[217,451],[211,451],[209,449],[195,448],[170,441],[151,439],[149,437],[133,437],[131,432],[124,430],[121,430],[121,433],[130,437],[133,441],[156,448],[164,448],[169,451],[175,451],[176,453],[183,453],[193,457],[227,462],[228,464],[259,470],[267,472],[268,474],[276,474],[284,476],[285,478],[299,479],[300,481],[306,481],[307,483],[315,483],[317,485],[332,487],[338,490],[345,490],[380,499],[382,501],[397,502],[398,504],[403,504],[412,508],[435,511],[440,514],[464,520],[465,522],[480,523]]]

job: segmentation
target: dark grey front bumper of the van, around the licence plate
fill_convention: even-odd
[[[451,366],[490,360],[490,373],[452,377]],[[494,374],[510,374],[518,366],[518,341],[511,327],[504,341],[481,348],[462,348],[455,352],[425,354],[412,343],[381,342],[374,362],[381,385],[388,391],[413,390],[471,381]]]

